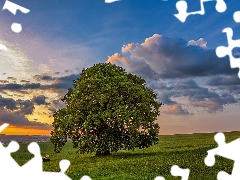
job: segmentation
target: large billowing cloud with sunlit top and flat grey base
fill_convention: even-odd
[[[190,45],[181,38],[167,38],[158,34],[147,38],[142,44],[123,46],[122,53],[115,53],[107,62],[121,61],[129,72],[143,78],[149,78],[149,75],[152,79],[160,79],[238,73],[238,69],[230,68],[229,59],[218,58],[215,50]]]

